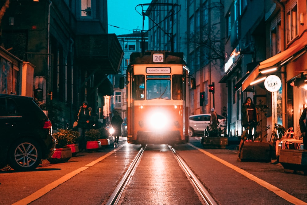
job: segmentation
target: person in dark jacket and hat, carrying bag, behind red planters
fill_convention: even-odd
[[[92,121],[91,117],[92,108],[88,107],[87,101],[84,101],[80,106],[78,112],[78,132],[79,132],[79,150],[80,152],[86,151],[86,137],[85,132],[90,130]]]

